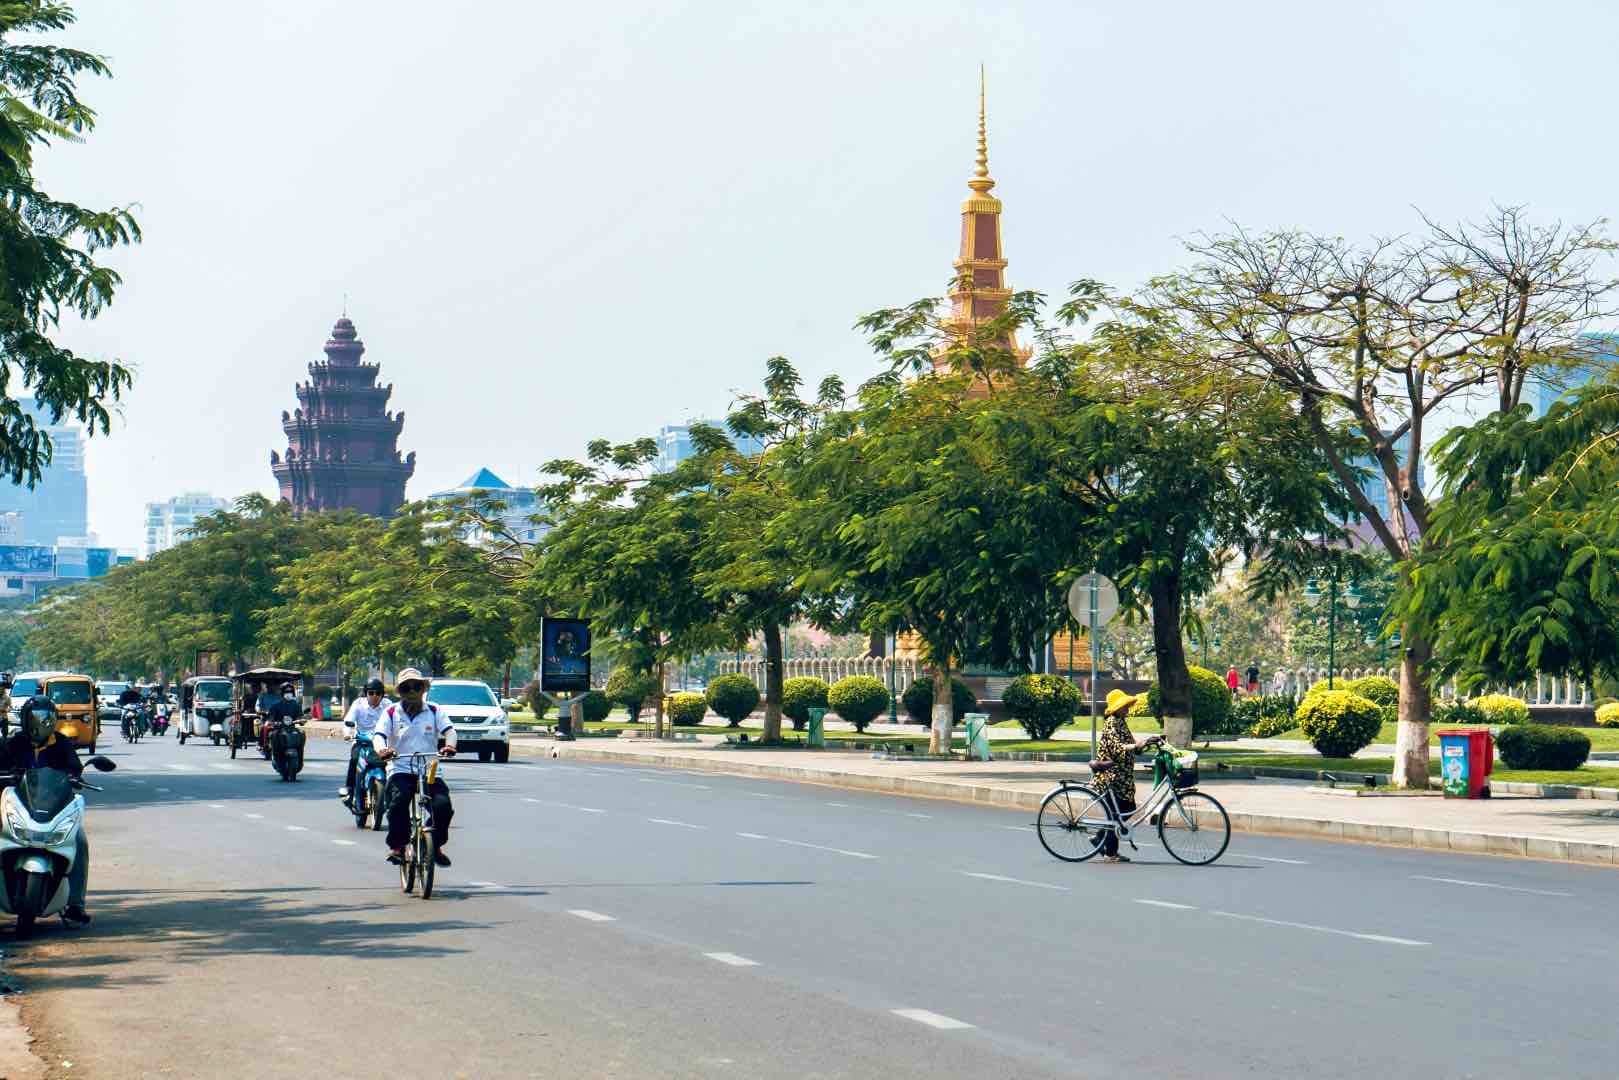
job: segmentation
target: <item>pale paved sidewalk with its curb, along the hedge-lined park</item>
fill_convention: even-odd
[[[903,761],[869,753],[740,750],[651,740],[557,742],[520,735],[512,740],[512,753],[730,772],[1030,813],[1057,780],[1090,776],[1085,766],[1062,763]],[[1145,795],[1146,784],[1138,787]],[[1619,810],[1595,800],[1352,797],[1297,780],[1213,777],[1200,787],[1219,798],[1237,832],[1619,865]]]

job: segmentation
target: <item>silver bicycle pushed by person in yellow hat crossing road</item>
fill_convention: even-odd
[[[1159,844],[1177,861],[1208,866],[1230,844],[1230,818],[1217,798],[1196,790],[1196,761],[1193,751],[1159,743],[1153,753],[1153,790],[1128,816],[1119,813],[1111,790],[1098,793],[1085,784],[1064,780],[1039,803],[1035,831],[1041,847],[1065,863],[1083,863],[1101,852],[1107,834],[1114,832],[1132,850],[1140,850],[1132,834],[1149,821],[1158,826]]]

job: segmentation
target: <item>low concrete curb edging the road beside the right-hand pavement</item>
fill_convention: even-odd
[[[1039,810],[1044,792],[984,787],[960,780],[918,780],[902,776],[865,776],[856,772],[827,772],[824,769],[800,769],[793,766],[764,764],[758,761],[701,758],[670,759],[665,755],[636,753],[633,750],[594,750],[576,743],[513,743],[516,755],[539,758],[557,756],[576,761],[633,763],[664,769],[693,772],[725,772],[732,776],[756,776],[771,780],[840,787],[847,790],[879,792],[886,795],[915,795],[942,798],[978,806],[1004,806],[1009,810]],[[1313,777],[1311,777],[1313,779]],[[1525,785],[1540,787],[1540,785]],[[1313,840],[1344,840],[1349,844],[1383,844],[1464,855],[1517,855],[1567,863],[1619,865],[1619,844],[1595,844],[1582,840],[1557,840],[1553,837],[1511,836],[1499,832],[1467,832],[1462,829],[1425,829],[1418,826],[1363,824],[1328,818],[1285,818],[1281,814],[1230,813],[1232,832],[1258,832],[1264,836],[1298,836]]]

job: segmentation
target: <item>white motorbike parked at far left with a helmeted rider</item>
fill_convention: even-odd
[[[117,767],[100,756],[84,764],[100,772]],[[29,769],[0,792],[0,910],[16,915],[18,938],[68,905],[68,873],[84,827],[78,789],[86,787],[102,790],[62,769]]]

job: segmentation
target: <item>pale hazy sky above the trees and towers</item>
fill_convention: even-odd
[[[125,547],[149,500],[275,492],[345,296],[410,497],[722,416],[774,355],[873,374],[855,321],[950,279],[979,63],[1007,280],[1052,296],[1230,223],[1585,222],[1619,172],[1603,3],[76,8],[58,39],[113,78],[39,173],[146,232],[63,330],[136,372],[86,455],[91,528]]]

